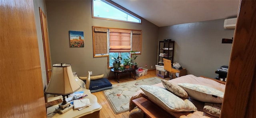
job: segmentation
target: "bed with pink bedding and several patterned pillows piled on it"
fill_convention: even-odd
[[[179,88],[181,87],[182,90],[185,90],[187,96],[184,96],[184,92],[181,89],[176,90],[176,88],[168,88],[170,83],[175,86],[178,85]],[[203,91],[210,91],[210,93],[200,90],[200,92],[198,92],[198,90],[193,90],[194,88],[191,89],[190,87],[188,87],[188,89],[186,88],[187,85],[192,85],[192,88],[196,86],[196,88],[199,89],[201,89],[200,87],[206,87],[207,89],[204,88]],[[136,107],[132,100],[143,97],[162,108],[162,110],[174,118],[218,118],[224,96],[225,83],[219,80],[196,77],[190,74],[172,80],[162,80],[162,83],[152,86],[141,86],[141,88],[142,90],[136,92],[130,99],[130,111]],[[180,95],[180,93],[182,94]],[[181,103],[183,101],[180,100],[178,102],[175,101],[178,105],[174,105],[175,103],[170,105],[170,102],[174,102],[170,101],[172,98],[175,100],[182,99],[185,103]],[[168,100],[168,102],[165,100]],[[185,105],[182,106],[182,104]],[[176,108],[176,106],[182,107]],[[216,112],[216,110],[218,110],[218,112]]]

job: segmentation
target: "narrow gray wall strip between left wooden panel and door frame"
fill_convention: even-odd
[[[34,14],[35,14],[35,22],[36,22],[36,33],[37,33],[37,39],[38,39],[39,56],[40,56],[41,71],[42,71],[42,82],[44,87],[45,85],[47,85],[47,77],[46,77],[46,69],[45,69],[45,62],[44,62],[44,44],[42,39],[39,7],[44,12],[44,14],[46,14],[46,6],[45,6],[44,0],[33,0],[33,3],[34,3]]]

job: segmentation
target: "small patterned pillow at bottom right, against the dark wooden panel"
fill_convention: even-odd
[[[220,118],[221,104],[204,103],[204,112],[212,116]]]

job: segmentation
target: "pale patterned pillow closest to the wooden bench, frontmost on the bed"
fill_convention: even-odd
[[[188,99],[182,100],[164,88],[148,85],[142,85],[140,88],[152,102],[170,114],[173,114],[172,112],[188,112],[197,110],[196,106],[194,106],[194,104]]]

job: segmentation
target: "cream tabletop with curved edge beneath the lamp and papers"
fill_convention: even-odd
[[[85,88],[80,88],[78,91],[84,91],[84,94],[87,94],[88,96],[84,98],[90,99],[90,105],[89,107],[86,107],[82,110],[69,110],[65,112],[64,114],[60,113],[52,113],[55,111],[55,108],[58,107],[58,104],[48,107],[47,108],[47,118],[100,118],[100,110],[102,106],[97,102],[96,96],[91,94],[90,90],[85,89]],[[49,97],[48,102],[53,101],[53,100],[58,100],[62,98],[62,96],[56,96],[56,97]],[[56,112],[56,111],[55,111]],[[52,113],[52,114],[50,114]]]

